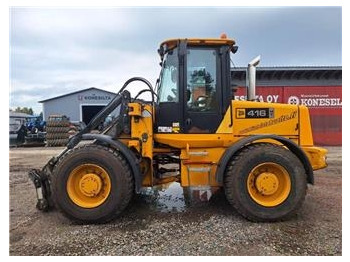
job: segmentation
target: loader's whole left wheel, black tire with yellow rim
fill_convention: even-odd
[[[68,152],[52,175],[57,208],[70,219],[104,223],[126,208],[133,176],[125,159],[109,148],[87,145]]]

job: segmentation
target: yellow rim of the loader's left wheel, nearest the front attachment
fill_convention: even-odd
[[[80,207],[98,207],[111,192],[111,180],[106,170],[98,165],[80,165],[69,174],[67,192],[69,198]]]

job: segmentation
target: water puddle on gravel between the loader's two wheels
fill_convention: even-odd
[[[144,188],[141,198],[151,209],[162,213],[185,212],[187,208],[206,203],[213,195],[210,187],[181,187],[180,183]]]

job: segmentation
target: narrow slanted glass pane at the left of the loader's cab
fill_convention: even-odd
[[[177,48],[166,54],[163,63],[163,70],[158,89],[158,103],[177,103],[179,102]]]

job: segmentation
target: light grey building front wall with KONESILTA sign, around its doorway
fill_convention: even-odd
[[[82,105],[107,105],[114,95],[98,89],[86,90],[43,102],[43,116],[62,114],[71,121],[82,121]]]

